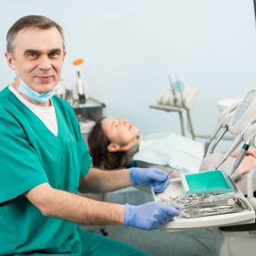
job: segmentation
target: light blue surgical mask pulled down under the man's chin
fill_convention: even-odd
[[[17,89],[20,93],[24,93],[26,96],[31,98],[32,101],[34,102],[40,102],[40,103],[45,103],[48,102],[49,99],[54,95],[56,88],[51,90],[48,93],[37,93],[31,87],[29,87],[27,84],[24,83],[22,80],[22,77],[20,76],[20,84]]]

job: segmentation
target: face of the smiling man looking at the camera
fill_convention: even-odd
[[[57,28],[26,28],[17,33],[13,51],[5,57],[25,84],[38,93],[47,93],[57,85],[65,54]]]

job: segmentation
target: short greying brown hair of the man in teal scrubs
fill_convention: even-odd
[[[15,22],[10,30],[7,32],[7,52],[11,52],[13,50],[13,40],[15,39],[19,31],[22,31],[25,28],[38,28],[41,30],[48,30],[53,27],[57,28],[57,31],[59,31],[63,40],[63,48],[65,49],[64,32],[62,28],[57,24],[57,22],[54,22],[45,16],[28,15],[20,18],[17,22]]]

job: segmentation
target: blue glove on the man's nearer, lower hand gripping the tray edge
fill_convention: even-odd
[[[163,203],[149,202],[139,206],[126,204],[124,224],[140,229],[158,229],[173,216],[179,216],[180,211],[175,207],[167,206]]]

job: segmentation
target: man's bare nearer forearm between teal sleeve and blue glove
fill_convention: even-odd
[[[123,224],[124,206],[86,199],[41,184],[24,194],[44,216],[55,216],[89,225]]]

